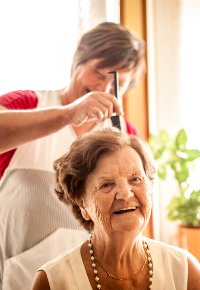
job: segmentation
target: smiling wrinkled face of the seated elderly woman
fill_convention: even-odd
[[[124,146],[99,155],[82,198],[82,215],[92,219],[95,230],[140,233],[150,218],[152,202],[139,154]]]

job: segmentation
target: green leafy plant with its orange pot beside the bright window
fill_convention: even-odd
[[[187,141],[188,138],[183,129],[179,131],[175,140],[163,130],[158,136],[150,135],[148,144],[154,159],[157,161],[158,177],[165,180],[169,167],[174,171],[179,192],[172,198],[167,207],[167,218],[179,221],[179,246],[192,252],[195,247],[194,241],[198,242],[197,248],[199,248],[200,243],[200,188],[193,190],[189,177],[191,171],[195,170],[194,160],[200,157],[200,151],[197,149],[188,150],[186,148]],[[189,236],[192,236],[191,245],[189,245]],[[187,245],[183,241],[187,241]],[[189,249],[190,247],[192,250]],[[195,252],[195,256],[200,261],[200,250],[199,253]]]

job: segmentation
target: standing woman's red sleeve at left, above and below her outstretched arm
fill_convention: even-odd
[[[33,91],[13,91],[0,96],[0,104],[12,110],[34,109],[37,107],[37,96]],[[0,154],[0,179],[8,167],[16,149]]]

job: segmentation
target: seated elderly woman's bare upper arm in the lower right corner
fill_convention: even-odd
[[[188,290],[200,290],[200,264],[188,253]]]

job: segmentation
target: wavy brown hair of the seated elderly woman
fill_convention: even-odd
[[[152,187],[156,168],[148,147],[134,135],[121,133],[115,128],[104,128],[78,137],[70,151],[54,162],[56,171],[56,193],[65,204],[72,206],[72,212],[81,225],[92,230],[92,220],[85,220],[81,214],[81,196],[84,195],[85,182],[94,169],[101,153],[112,153],[124,146],[130,146],[139,154],[144,171]]]

